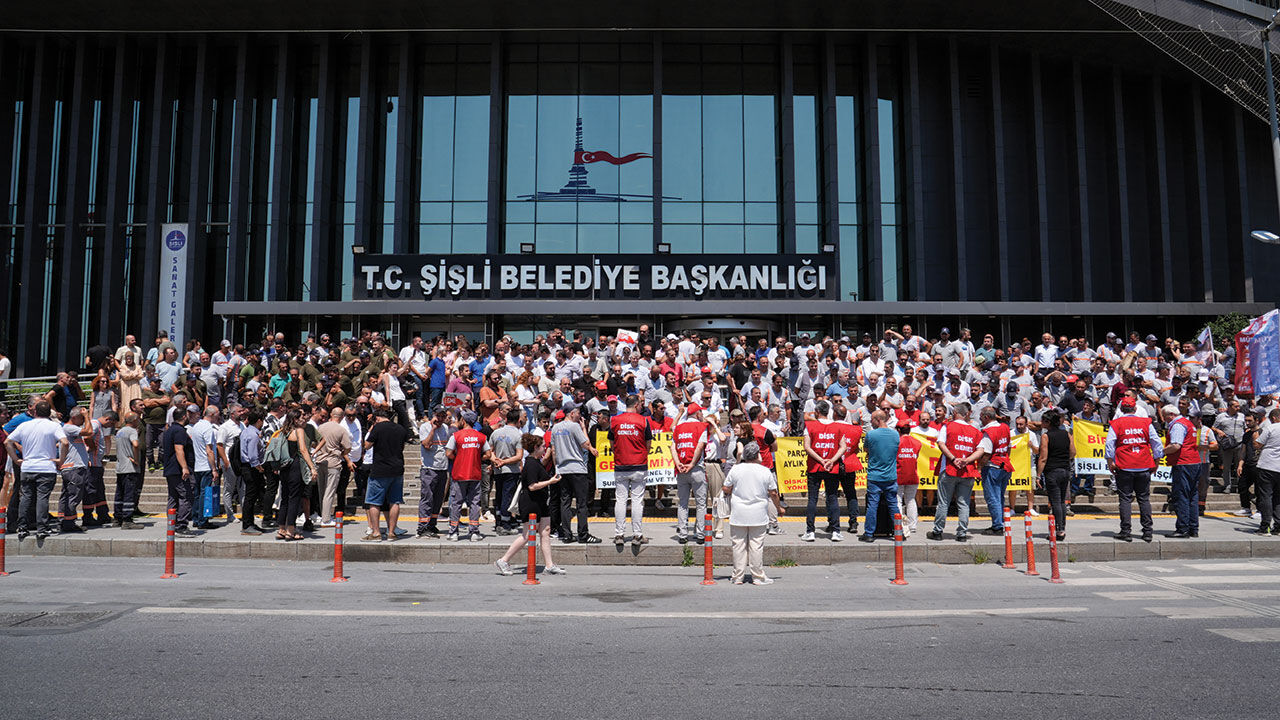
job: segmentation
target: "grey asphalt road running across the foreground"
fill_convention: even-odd
[[[696,568],[22,559],[0,707],[35,717],[1248,717],[1280,562]]]

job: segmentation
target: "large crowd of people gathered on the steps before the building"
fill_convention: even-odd
[[[700,542],[698,519],[710,509],[716,537],[727,523],[764,582],[763,536],[782,532],[777,516],[786,511],[773,473],[777,438],[805,438],[801,539],[817,539],[823,496],[823,534],[837,542],[842,532],[858,534],[861,446],[869,466],[859,539],[873,542],[884,530],[881,512],[899,509],[910,534],[922,505],[936,507],[927,537],[941,539],[955,503],[954,537],[964,541],[979,478],[992,521],[982,532],[1002,533],[1004,507],[1018,501],[1006,491],[1009,448],[1025,434],[1036,492],[1047,496],[1060,534],[1073,500],[1105,489],[1120,496],[1117,537],[1132,539],[1137,501],[1149,541],[1151,473],[1161,457],[1174,465],[1175,537],[1198,533],[1211,488],[1239,493],[1238,514],[1257,516],[1261,533],[1280,534],[1280,429],[1272,424],[1280,405],[1236,397],[1233,365],[1231,347],[1138,333],[1107,333],[1098,345],[1046,333],[1039,343],[997,347],[991,334],[975,341],[968,329],[941,328],[925,340],[910,325],[860,342],[808,334],[722,342],[641,325],[620,337],[553,331],[530,343],[413,337],[398,351],[374,332],[294,345],[274,333],[250,346],[224,340],[212,351],[196,340],[178,347],[164,333],[143,348],[128,336],[118,348],[90,348],[79,374],[60,373],[4,419],[8,518],[19,536],[138,528],[142,480],[154,471],[165,479],[179,536],[238,514],[244,534],[274,530],[294,541],[362,506],[362,539],[392,541],[411,534],[399,527],[399,507],[406,447],[417,446],[419,537],[477,541],[481,523],[493,523],[498,534],[520,536],[509,560],[526,541],[520,521],[532,512],[548,548],[553,538],[599,543],[589,512],[612,496],[613,542],[644,544],[653,493],[657,509],[677,506],[680,542]],[[1105,488],[1074,470],[1069,428],[1078,419],[1110,428]],[[657,433],[673,436],[673,498],[666,487],[645,487]],[[614,488],[596,491],[602,434],[614,454]],[[918,487],[920,436],[942,455],[936,493]],[[110,502],[108,462],[116,471]],[[47,506],[59,475],[54,516]],[[1036,510],[1033,492],[1024,501]],[[737,568],[735,579],[742,577]]]

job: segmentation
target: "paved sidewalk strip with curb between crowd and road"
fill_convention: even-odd
[[[1139,533],[1134,518],[1134,532]],[[15,536],[8,536],[5,551],[10,565],[20,564],[24,555],[74,555],[97,557],[155,557],[157,566],[164,559],[165,520],[150,516],[138,520],[147,525],[141,530],[122,530],[116,528],[95,528],[86,533],[52,536],[42,543],[29,536],[20,543]],[[1001,562],[1005,556],[1004,538],[996,536],[973,534],[989,527],[989,519],[975,518],[970,525],[969,542],[955,541],[955,518],[947,519],[947,529],[942,541],[925,539],[932,518],[922,518],[919,532],[904,543],[906,562],[937,564],[982,564]],[[819,519],[818,527],[826,524]],[[1066,541],[1057,547],[1059,561],[1108,561],[1108,560],[1166,560],[1166,559],[1221,559],[1221,557],[1280,557],[1280,537],[1254,536],[1257,520],[1235,518],[1225,514],[1210,514],[1201,518],[1198,538],[1174,539],[1166,534],[1174,529],[1171,515],[1157,515],[1155,519],[1156,537],[1151,543],[1140,539],[1119,542],[1114,539],[1119,532],[1119,519],[1115,516],[1075,516],[1068,519]],[[412,533],[417,527],[413,516],[402,516],[401,528],[411,534],[397,541],[362,542],[366,524],[364,518],[348,519],[344,528],[344,559],[348,562],[413,562],[413,564],[470,564],[492,562],[502,556],[512,537],[490,534],[493,524],[481,527],[485,538],[480,542],[448,542],[417,538]],[[616,547],[612,543],[613,520],[593,518],[590,529],[604,542],[584,546],[564,544],[552,541],[552,553],[557,564],[564,565],[681,565],[687,548],[694,565],[703,562],[703,546],[690,542],[681,546],[676,542],[675,521],[658,519],[645,523],[645,536],[650,543],[643,547],[626,544]],[[877,539],[874,543],[858,542],[856,537],[845,536],[844,542],[832,542],[826,533],[819,533],[815,542],[800,541],[804,532],[803,518],[783,518],[785,534],[769,536],[764,541],[764,560],[767,564],[795,562],[797,565],[833,565],[845,562],[891,562],[893,560],[893,541]],[[179,557],[244,559],[244,560],[312,560],[333,559],[332,528],[317,529],[307,539],[284,542],[274,534],[246,537],[239,534],[239,524],[220,527],[201,533],[195,538],[178,538],[175,552]],[[1048,562],[1048,520],[1044,515],[1033,519],[1036,537],[1036,561]],[[1025,559],[1025,533],[1021,518],[1014,519],[1014,559]],[[526,551],[516,556],[516,562],[524,564]],[[539,556],[541,553],[539,552]],[[541,561],[541,559],[539,559]],[[714,561],[728,565],[732,561],[728,533],[724,539],[714,543]]]

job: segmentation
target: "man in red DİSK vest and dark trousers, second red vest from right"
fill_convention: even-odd
[[[1120,493],[1120,534],[1117,541],[1133,542],[1133,497],[1138,496],[1142,520],[1142,542],[1151,542],[1151,471],[1165,448],[1151,418],[1134,414],[1138,402],[1132,395],[1120,400],[1120,414],[1107,428],[1107,468],[1116,479]]]

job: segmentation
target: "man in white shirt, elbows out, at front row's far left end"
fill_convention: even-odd
[[[35,528],[36,539],[49,537],[49,496],[58,480],[58,468],[67,461],[70,443],[63,425],[50,419],[52,407],[41,400],[28,420],[5,438],[5,450],[15,473],[22,475],[22,500],[18,505],[18,541]]]

